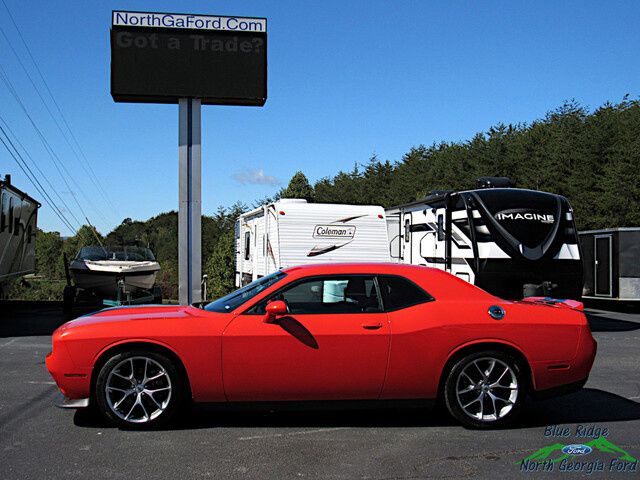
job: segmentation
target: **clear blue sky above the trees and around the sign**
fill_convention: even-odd
[[[0,65],[103,233],[178,202],[178,108],[113,102],[112,9],[268,18],[266,105],[203,107],[205,214],[272,195],[296,170],[315,181],[372,154],[396,161],[412,146],[528,122],[567,99],[594,108],[639,93],[640,4],[633,1],[4,1],[113,206],[96,192],[1,35]],[[2,0],[0,27],[38,82]],[[2,83],[0,115],[81,218]],[[35,196],[2,148],[0,173]],[[48,206],[39,224],[69,234]]]

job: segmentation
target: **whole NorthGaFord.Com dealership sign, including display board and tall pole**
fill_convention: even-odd
[[[201,302],[201,109],[264,105],[267,19],[115,10],[110,35],[113,100],[178,104],[178,299]]]

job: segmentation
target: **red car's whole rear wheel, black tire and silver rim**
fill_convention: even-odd
[[[528,391],[524,368],[518,359],[499,350],[475,352],[457,360],[444,385],[447,410],[467,428],[503,428],[512,424]]]

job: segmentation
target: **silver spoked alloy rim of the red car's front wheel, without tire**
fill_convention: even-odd
[[[111,411],[131,423],[157,418],[171,400],[171,379],[160,363],[148,357],[130,357],[111,369],[105,384]]]

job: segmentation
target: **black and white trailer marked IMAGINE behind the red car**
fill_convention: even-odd
[[[391,257],[446,270],[509,299],[579,298],[582,263],[566,198],[483,177],[387,209]]]

